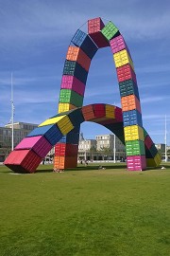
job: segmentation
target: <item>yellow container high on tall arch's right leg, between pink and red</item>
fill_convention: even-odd
[[[114,53],[113,59],[116,67],[122,66],[124,64],[130,64],[131,67],[134,69],[133,62],[129,57],[126,49]]]

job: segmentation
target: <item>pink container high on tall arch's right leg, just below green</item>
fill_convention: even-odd
[[[122,35],[119,35],[119,36],[110,40],[110,48],[111,48],[112,53],[116,53],[116,52],[121,51],[123,49],[127,49],[127,52],[130,56],[127,44],[126,44]],[[131,58],[131,56],[130,56],[130,58]]]

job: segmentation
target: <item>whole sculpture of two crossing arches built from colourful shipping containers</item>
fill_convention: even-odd
[[[96,51],[106,46],[113,53],[122,109],[100,103],[82,107],[91,61]],[[161,162],[143,128],[136,74],[127,44],[112,22],[104,25],[101,18],[95,18],[88,21],[88,33],[76,30],[63,67],[58,113],[42,122],[8,155],[5,164],[11,170],[35,172],[54,145],[54,167],[76,167],[79,128],[84,120],[104,125],[122,140],[127,151],[127,170],[143,171],[146,166],[156,167]]]

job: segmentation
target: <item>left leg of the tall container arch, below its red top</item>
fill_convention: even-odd
[[[73,46],[68,47],[60,84],[59,113],[82,106],[91,60],[98,49],[92,38],[80,29],[76,31],[71,44],[73,44]],[[77,115],[77,117],[75,115]],[[72,121],[78,129],[76,128],[76,133],[71,132],[71,134],[63,137],[62,142],[59,141],[56,145],[55,169],[76,167],[77,145],[79,140],[79,125],[76,124],[76,122],[79,121],[80,123],[82,119],[78,116],[78,113],[75,113],[75,115],[72,117]],[[75,138],[71,144],[67,143],[70,137]],[[65,155],[59,155],[59,150],[57,149],[62,148],[63,143]],[[73,149],[73,155],[68,156],[67,152],[71,148]]]

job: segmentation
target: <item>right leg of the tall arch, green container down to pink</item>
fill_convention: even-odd
[[[127,149],[127,169],[144,170],[146,168],[144,131],[134,65],[127,44],[117,27],[110,22],[102,29],[102,33],[110,42],[119,82]]]

